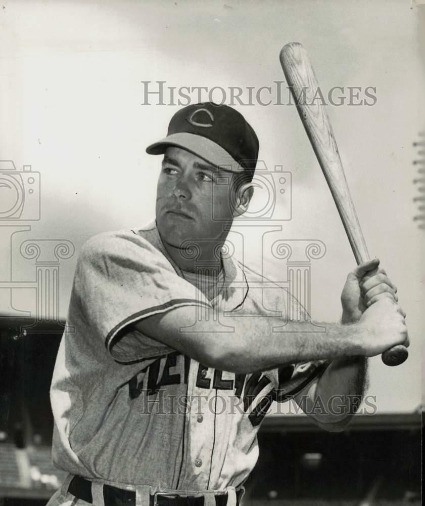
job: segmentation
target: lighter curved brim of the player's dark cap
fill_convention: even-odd
[[[146,148],[146,152],[150,155],[162,155],[170,146],[190,151],[208,163],[221,167],[226,171],[244,172],[245,170],[225,149],[211,139],[187,132],[171,134],[158,142],[154,142]]]

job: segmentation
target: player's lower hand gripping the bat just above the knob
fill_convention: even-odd
[[[408,347],[405,316],[390,294],[369,306],[359,320],[364,355],[373,357],[396,345]]]

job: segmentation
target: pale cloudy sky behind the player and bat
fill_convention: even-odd
[[[285,93],[285,105],[275,105],[274,81],[284,80],[280,48],[299,41],[325,98],[342,87],[333,98],[338,103],[343,97],[344,104],[330,104],[327,112],[370,255],[381,259],[408,315],[409,360],[388,368],[372,359],[369,394],[382,412],[415,409],[423,332],[422,236],[412,221],[412,142],[423,130],[424,110],[418,19],[415,4],[402,0],[3,2],[0,159],[13,160],[18,170],[30,164],[39,173],[41,218],[22,221],[31,230],[13,236],[12,244],[12,229],[0,227],[0,280],[11,277],[11,250],[12,279],[34,278],[33,261],[19,255],[25,239],[71,241],[76,254],[60,267],[65,315],[82,243],[154,217],[160,158],[145,148],[166,134],[178,105],[157,105],[153,94],[151,105],[144,105],[142,81],[151,81],[149,91],[165,81],[165,103],[172,101],[170,87],[175,94],[182,87],[219,87],[225,103],[231,87],[242,88],[248,102],[251,87],[253,105],[236,108],[257,132],[259,157],[269,170],[281,165],[292,173],[292,202],[289,191],[276,200],[276,213],[286,216],[291,209],[292,219],[280,222],[282,230],[273,237],[325,244],[326,254],[311,264],[311,314],[316,321],[337,321],[354,258],[295,107],[286,104]],[[263,90],[259,100],[271,97],[270,105],[255,96],[263,86],[271,92]],[[360,88],[353,103],[367,99],[369,89],[371,105],[349,105],[349,87]],[[196,102],[196,94],[191,99]],[[5,191],[3,199],[9,198]],[[254,267],[262,254],[258,234],[257,228],[245,234],[244,261]],[[267,273],[284,281],[285,263],[263,255]],[[34,292],[16,290],[13,303],[33,310]]]

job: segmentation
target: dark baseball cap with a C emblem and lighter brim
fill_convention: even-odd
[[[244,116],[228,105],[203,102],[178,110],[167,137],[146,148],[164,154],[169,146],[190,151],[223,170],[254,174],[259,142]]]

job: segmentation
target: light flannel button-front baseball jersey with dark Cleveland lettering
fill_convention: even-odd
[[[246,480],[271,403],[293,397],[327,363],[234,374],[133,326],[186,305],[212,319],[219,310],[285,320],[285,290],[261,288],[261,276],[231,257],[222,262],[221,289],[208,299],[169,258],[155,223],[83,245],[51,387],[58,468],[157,490],[221,491]]]

